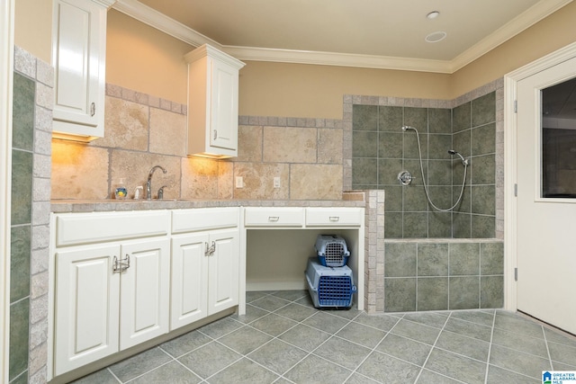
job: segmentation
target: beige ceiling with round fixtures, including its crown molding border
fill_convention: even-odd
[[[177,37],[189,29],[194,45],[240,59],[451,73],[571,1],[119,0],[114,8],[150,24],[161,13]],[[446,39],[427,42],[435,32]]]

